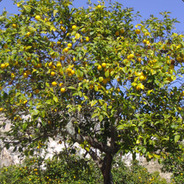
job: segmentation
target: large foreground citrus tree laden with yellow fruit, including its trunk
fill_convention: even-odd
[[[112,183],[115,154],[183,152],[184,42],[176,19],[103,1],[14,1],[0,17],[0,111],[6,146],[26,155],[48,138],[79,143]],[[99,154],[95,150],[99,151]]]

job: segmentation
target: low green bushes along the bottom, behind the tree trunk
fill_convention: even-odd
[[[99,169],[91,160],[70,157],[68,164],[65,158],[47,159],[44,170],[38,166],[39,158],[26,159],[23,165],[9,166],[1,169],[2,184],[86,184],[102,183]],[[112,169],[115,184],[166,184],[158,173],[149,173],[146,168],[132,164],[129,168],[120,159],[116,160]]]

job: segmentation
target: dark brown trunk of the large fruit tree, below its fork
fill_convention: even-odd
[[[104,178],[104,184],[113,184],[113,178],[111,173],[112,160],[113,156],[110,153],[106,153],[101,168]]]

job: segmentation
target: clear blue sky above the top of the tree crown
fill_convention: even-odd
[[[97,3],[98,0],[91,0]],[[115,2],[115,0],[111,0]],[[134,10],[140,11],[142,19],[146,19],[150,14],[159,16],[159,12],[169,11],[172,18],[177,18],[181,23],[176,24],[176,31],[183,32],[184,30],[184,2],[182,0],[116,0],[122,3],[124,7],[132,7]],[[85,6],[87,0],[74,0],[75,7]],[[106,0],[107,2],[107,0]],[[17,7],[13,5],[12,0],[2,0],[0,2],[0,13],[3,8],[9,13],[17,13]],[[142,20],[141,19],[141,20]]]

